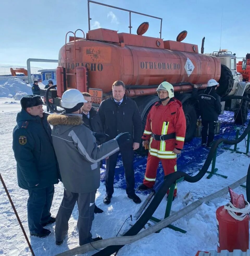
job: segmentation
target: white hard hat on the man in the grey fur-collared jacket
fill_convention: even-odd
[[[77,89],[69,89],[62,94],[61,106],[63,108],[73,108],[78,103],[88,102],[84,99],[82,93]]]

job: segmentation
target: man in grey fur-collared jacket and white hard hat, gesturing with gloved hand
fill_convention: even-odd
[[[68,232],[68,220],[77,201],[79,216],[77,228],[79,245],[102,239],[92,238],[95,194],[100,185],[100,161],[130,143],[129,133],[121,133],[98,146],[96,138],[83,123],[82,107],[87,102],[82,93],[69,89],[62,95],[62,114],[52,114],[48,122],[53,125],[53,146],[64,185],[64,196],[59,207],[56,224],[56,245],[60,246]]]

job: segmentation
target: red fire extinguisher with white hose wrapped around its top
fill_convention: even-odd
[[[216,210],[217,252],[249,249],[250,204],[229,188],[231,201]]]

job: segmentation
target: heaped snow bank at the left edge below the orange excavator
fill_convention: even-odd
[[[16,93],[24,92],[32,94],[31,87],[19,78],[10,78],[3,85],[0,85],[0,97],[13,97]]]

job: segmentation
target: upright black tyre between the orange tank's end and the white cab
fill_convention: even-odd
[[[223,64],[221,64],[221,77],[218,83],[220,86],[217,88],[216,93],[221,97],[227,96],[234,86],[232,72]]]

